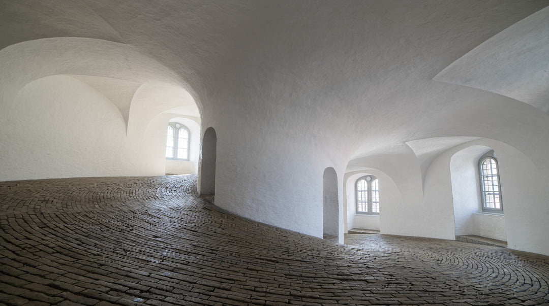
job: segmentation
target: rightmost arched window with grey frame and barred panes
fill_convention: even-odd
[[[479,174],[482,210],[502,213],[500,174],[496,158],[493,156],[481,157],[479,160]]]

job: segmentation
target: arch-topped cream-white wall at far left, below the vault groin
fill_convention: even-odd
[[[3,112],[1,180],[154,172],[126,138],[116,106],[69,76],[31,82]]]

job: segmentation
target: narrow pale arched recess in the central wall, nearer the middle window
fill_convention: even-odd
[[[322,178],[322,234],[336,239],[339,233],[338,175],[335,169],[324,169]]]

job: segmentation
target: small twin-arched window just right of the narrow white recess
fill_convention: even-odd
[[[373,175],[356,180],[356,212],[379,214],[379,182]]]

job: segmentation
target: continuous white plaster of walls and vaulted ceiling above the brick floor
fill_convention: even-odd
[[[519,24],[527,44],[498,52],[501,69],[475,70],[494,75],[433,80],[499,32],[502,46],[522,42],[513,24],[546,0],[0,5],[2,180],[163,174],[165,127],[178,116],[202,135],[215,128],[215,203],[228,211],[321,237],[323,171],[333,167],[341,237],[344,174],[373,168],[401,196],[384,192],[382,233],[451,239],[453,150],[488,138],[477,144],[498,152],[503,188],[517,184],[503,189],[509,247],[549,254],[537,234],[549,230],[549,117],[514,96],[542,107],[547,42],[529,36],[539,19]],[[481,87],[490,82],[512,93]],[[27,122],[40,123],[40,139],[21,132]],[[87,143],[69,128],[79,122]],[[421,154],[406,144],[437,138]]]

